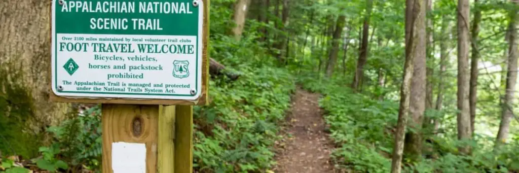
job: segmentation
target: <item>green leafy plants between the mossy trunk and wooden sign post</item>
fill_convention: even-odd
[[[101,110],[99,106],[86,110],[83,115],[67,119],[60,126],[47,131],[54,141],[48,147],[40,147],[43,158],[36,159],[39,168],[56,171],[58,168],[81,170],[97,169],[101,165],[102,137]]]

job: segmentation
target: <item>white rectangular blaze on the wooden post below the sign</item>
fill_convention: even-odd
[[[112,143],[114,173],[146,173],[146,144]]]

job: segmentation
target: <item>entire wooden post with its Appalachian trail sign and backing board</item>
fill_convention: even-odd
[[[52,0],[51,95],[102,103],[103,173],[193,172],[209,0]]]

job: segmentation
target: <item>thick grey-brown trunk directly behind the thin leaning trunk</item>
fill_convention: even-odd
[[[416,2],[415,2],[416,3]],[[424,5],[424,4],[420,4]],[[419,6],[415,6],[414,10],[419,10]],[[425,13],[425,11],[420,11]],[[417,19],[419,20],[419,19]],[[421,21],[420,21],[421,22]],[[414,71],[413,78],[411,78],[411,104],[409,105],[409,113],[411,114],[411,122],[407,125],[409,128],[413,130],[407,131],[405,135],[405,144],[404,144],[404,158],[413,163],[419,162],[421,160],[421,145],[422,145],[422,136],[421,136],[421,126],[422,121],[424,119],[425,105],[426,105],[426,30],[425,24],[422,26],[422,23],[416,23],[414,27],[417,30],[412,32],[416,32],[416,37],[413,39],[417,39],[413,41],[414,51]],[[414,34],[414,33],[413,33]]]

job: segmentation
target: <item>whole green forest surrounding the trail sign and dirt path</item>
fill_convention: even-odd
[[[100,106],[48,99],[49,5],[0,3],[0,171],[96,172]],[[212,75],[210,105],[194,108],[196,171],[270,170],[297,85],[322,94],[338,170],[519,171],[516,2],[210,8],[210,56],[225,69]]]

